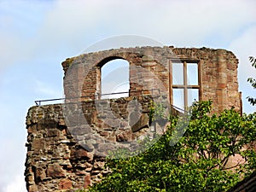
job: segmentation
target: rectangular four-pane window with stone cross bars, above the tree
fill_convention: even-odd
[[[171,101],[186,110],[200,100],[200,67],[198,61],[172,61]]]

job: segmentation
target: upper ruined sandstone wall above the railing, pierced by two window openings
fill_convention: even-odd
[[[62,62],[66,97],[100,98],[97,95],[101,94],[101,67],[117,58],[130,63],[130,96],[148,94],[148,90],[157,89],[171,102],[172,61],[193,61],[199,65],[200,99],[212,100],[214,113],[230,107],[241,109],[238,60],[236,55],[224,49],[137,47],[79,55]]]

